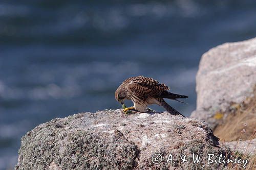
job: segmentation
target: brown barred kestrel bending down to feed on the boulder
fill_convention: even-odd
[[[179,101],[178,99],[188,98],[188,96],[168,92],[167,90],[169,89],[165,84],[160,84],[152,78],[144,76],[131,77],[124,80],[117,88],[115,98],[121,104],[123,104],[125,99],[132,100],[134,106],[123,109],[125,113],[131,109],[145,112],[148,105],[157,104],[162,106],[170,114],[182,115],[163,99]]]

